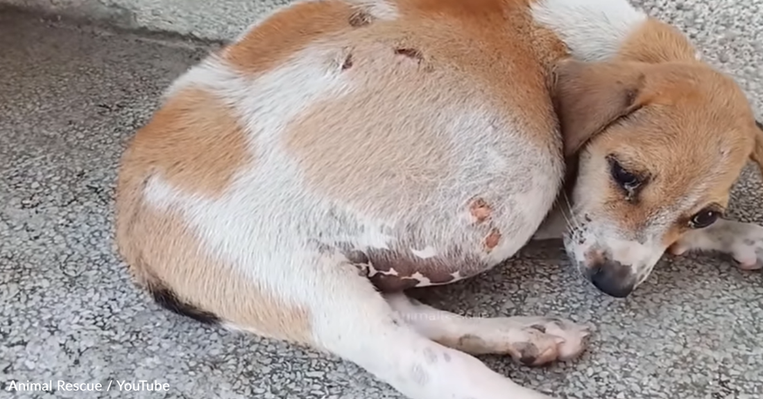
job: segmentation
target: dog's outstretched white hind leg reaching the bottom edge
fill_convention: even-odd
[[[411,399],[550,399],[436,343],[394,311],[346,260],[325,257],[311,304],[314,343]]]

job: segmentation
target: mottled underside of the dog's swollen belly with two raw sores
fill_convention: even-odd
[[[386,236],[377,245],[344,242],[338,247],[383,292],[449,284],[490,270],[519,251],[549,211],[553,186],[530,184],[526,192],[507,197],[504,206],[491,207],[477,197],[465,214],[387,229],[377,235]]]

